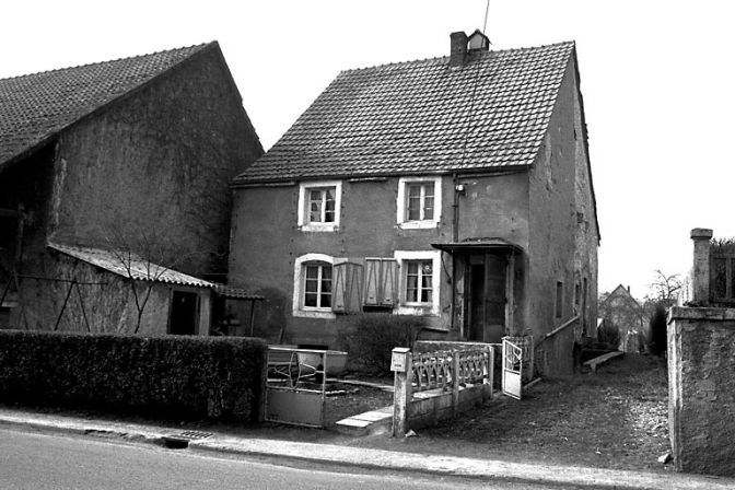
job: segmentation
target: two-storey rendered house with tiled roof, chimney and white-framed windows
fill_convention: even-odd
[[[268,296],[271,339],[334,348],[341,314],[388,312],[571,372],[599,242],[574,44],[451,38],[340,73],[234,180],[230,283]]]

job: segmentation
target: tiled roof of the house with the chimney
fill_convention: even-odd
[[[574,43],[341,72],[235,183],[530,165]]]

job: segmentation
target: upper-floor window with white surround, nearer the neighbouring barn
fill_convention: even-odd
[[[305,232],[339,230],[342,183],[308,182],[299,187],[299,228]]]

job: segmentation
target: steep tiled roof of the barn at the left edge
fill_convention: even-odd
[[[70,124],[213,44],[0,80],[0,170]]]

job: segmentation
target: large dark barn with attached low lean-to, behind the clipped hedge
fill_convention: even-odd
[[[217,43],[0,80],[0,326],[131,331],[113,290],[143,280],[168,296],[141,331],[209,331],[175,300],[225,281],[229,186],[261,154]]]

